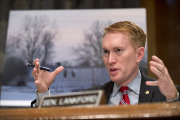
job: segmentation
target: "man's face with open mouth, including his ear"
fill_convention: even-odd
[[[135,48],[126,33],[107,33],[102,41],[103,60],[110,79],[127,85],[137,75],[144,48]]]

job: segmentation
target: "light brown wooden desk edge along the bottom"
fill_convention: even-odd
[[[180,119],[180,102],[96,107],[1,108],[0,120]]]

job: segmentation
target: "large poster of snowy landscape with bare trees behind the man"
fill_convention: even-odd
[[[1,104],[21,101],[30,106],[36,98],[32,68],[27,67],[35,58],[51,70],[60,65],[65,68],[51,85],[52,94],[97,88],[108,82],[101,49],[104,28],[128,20],[146,33],[145,13],[145,9],[10,11]],[[143,61],[146,63],[147,54]]]

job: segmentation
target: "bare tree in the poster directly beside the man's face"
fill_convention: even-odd
[[[101,39],[104,34],[104,28],[109,24],[110,22],[95,21],[90,31],[85,31],[85,42],[74,48],[74,52],[78,56],[77,62],[80,66],[103,66]]]

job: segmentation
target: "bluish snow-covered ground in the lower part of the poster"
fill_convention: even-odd
[[[52,94],[81,91],[95,86],[103,85],[109,80],[107,72],[102,68],[69,68],[60,73],[50,90]],[[27,86],[2,86],[0,106],[29,107],[36,98],[36,88],[33,80],[26,82]]]

